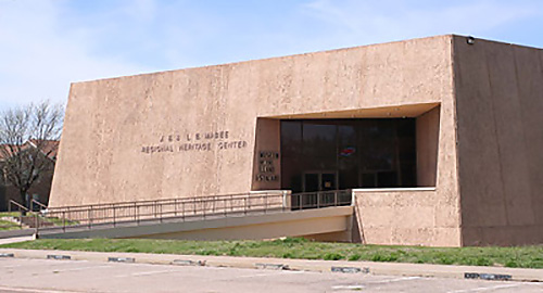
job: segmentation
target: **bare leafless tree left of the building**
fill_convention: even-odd
[[[0,170],[26,203],[26,194],[51,167],[62,131],[62,105],[43,101],[0,113]]]

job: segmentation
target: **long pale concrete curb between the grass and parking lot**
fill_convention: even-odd
[[[136,263],[175,266],[207,266],[245,269],[304,270],[336,273],[370,273],[406,277],[438,277],[494,281],[543,282],[543,269],[346,260],[306,260],[263,257],[0,249],[0,259],[12,257],[56,259],[58,262],[71,259],[128,264]]]

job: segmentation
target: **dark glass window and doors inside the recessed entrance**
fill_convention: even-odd
[[[412,118],[282,120],[281,187],[315,189],[306,174],[334,174],[337,189],[414,187],[415,142]]]

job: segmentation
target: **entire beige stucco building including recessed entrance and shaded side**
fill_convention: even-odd
[[[364,243],[543,243],[541,113],[542,50],[452,35],[77,82],[50,206],[352,189]]]

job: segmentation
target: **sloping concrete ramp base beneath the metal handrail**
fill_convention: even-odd
[[[93,229],[72,228],[40,233],[45,239],[142,238],[185,240],[273,239],[306,237],[318,240],[351,241],[352,206],[331,206],[303,211],[268,212],[192,220],[105,225]],[[331,239],[329,239],[331,238]]]

